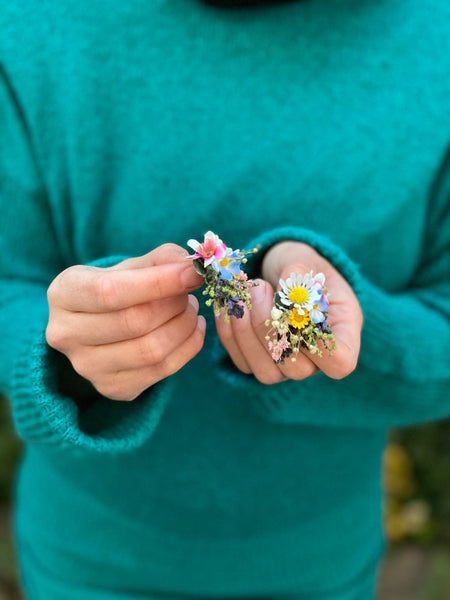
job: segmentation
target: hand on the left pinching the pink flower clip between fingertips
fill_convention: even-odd
[[[202,348],[206,322],[188,292],[200,287],[174,244],[113,267],[74,266],[48,289],[47,343],[102,395],[134,400]]]

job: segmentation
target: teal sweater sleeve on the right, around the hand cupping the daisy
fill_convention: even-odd
[[[341,380],[319,372],[302,381],[264,386],[238,371],[218,344],[222,377],[245,390],[256,410],[278,423],[385,428],[449,417],[449,198],[450,156],[430,194],[422,260],[408,288],[397,293],[370,281],[342,248],[316,231],[282,227],[252,240],[248,247],[262,248],[249,259],[251,277],[260,274],[267,250],[283,240],[311,245],[340,271],[363,311],[359,361]]]

